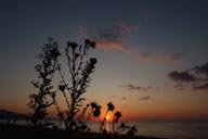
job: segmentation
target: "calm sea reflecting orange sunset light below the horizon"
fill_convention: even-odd
[[[6,123],[5,121],[0,121]],[[64,124],[53,121],[56,126],[64,129]],[[16,121],[15,124],[26,125],[25,121]],[[168,139],[208,139],[208,122],[130,122],[127,125],[135,125],[138,136],[161,137]],[[91,131],[99,132],[100,123],[90,122]],[[112,123],[105,127],[110,130]]]

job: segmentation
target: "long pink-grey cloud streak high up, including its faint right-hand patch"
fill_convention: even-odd
[[[129,46],[123,41],[138,31],[139,27],[120,23],[115,26],[107,26],[98,30],[87,30],[79,26],[79,35],[83,38],[90,38],[98,43],[98,48],[104,50],[118,50],[129,53],[141,62],[151,62],[152,60],[164,61],[166,63],[178,62],[181,54],[165,53],[158,56],[150,54],[148,52],[140,51],[133,46]]]

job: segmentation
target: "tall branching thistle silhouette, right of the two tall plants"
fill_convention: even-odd
[[[57,68],[61,76],[58,90],[65,99],[67,110],[62,111],[55,100],[54,104],[60,119],[64,122],[66,129],[70,131],[88,129],[86,123],[90,116],[100,115],[96,103],[87,104],[83,108],[86,99],[82,97],[90,86],[91,74],[94,72],[98,62],[95,58],[87,59],[88,52],[94,48],[95,42],[89,39],[84,40],[83,46],[68,41],[65,48],[65,56],[69,78],[66,79],[66,76],[63,75],[61,65]],[[90,113],[86,116],[89,108],[91,108],[93,115]]]

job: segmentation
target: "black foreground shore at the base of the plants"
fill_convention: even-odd
[[[0,139],[70,139],[66,130],[31,129],[26,126],[0,124]],[[98,132],[78,132],[74,139],[161,139],[156,137],[103,137]]]

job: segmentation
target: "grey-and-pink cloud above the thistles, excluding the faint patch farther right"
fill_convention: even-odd
[[[127,24],[120,24],[115,28],[102,29],[92,34],[90,38],[96,41],[98,47],[104,50],[118,50],[127,52],[139,59],[140,61],[147,62],[152,60],[152,55],[146,52],[142,52],[133,47],[129,47],[122,42],[122,39],[127,39],[138,29],[136,26],[130,26]]]

